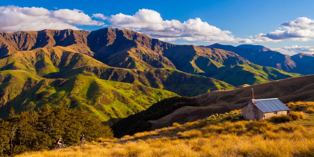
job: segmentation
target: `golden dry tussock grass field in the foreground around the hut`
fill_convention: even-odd
[[[245,121],[240,111],[172,127],[98,139],[83,147],[19,156],[314,156],[313,102],[288,103],[290,122]]]

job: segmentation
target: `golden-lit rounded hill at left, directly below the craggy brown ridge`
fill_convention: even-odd
[[[19,69],[40,76],[84,65],[106,66],[92,57],[62,46],[18,51],[0,60],[0,70]]]

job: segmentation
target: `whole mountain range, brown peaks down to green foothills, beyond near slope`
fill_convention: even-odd
[[[173,96],[313,74],[314,56],[263,46],[176,45],[136,31],[0,32],[0,117],[82,107],[112,125]]]

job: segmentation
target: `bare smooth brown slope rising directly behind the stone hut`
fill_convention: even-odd
[[[254,88],[255,99],[279,98],[284,103],[291,101],[314,101],[314,75],[252,85],[240,89],[213,91],[194,97],[200,107],[182,107],[158,120],[150,121],[152,128],[172,125],[173,122],[192,122],[214,113],[225,113],[237,109],[251,99]]]

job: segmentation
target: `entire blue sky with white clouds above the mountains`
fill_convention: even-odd
[[[314,54],[314,1],[22,1],[0,3],[0,31],[109,26],[175,44],[263,45]]]

